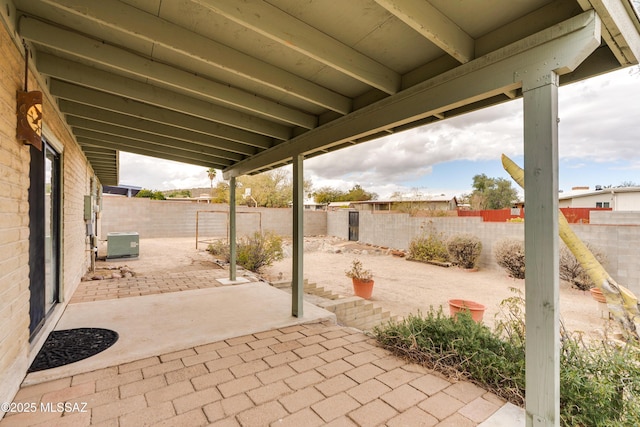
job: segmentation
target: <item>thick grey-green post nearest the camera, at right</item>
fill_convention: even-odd
[[[560,425],[558,75],[523,82],[527,427]]]

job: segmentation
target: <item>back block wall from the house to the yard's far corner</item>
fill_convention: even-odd
[[[151,200],[118,196],[103,197],[101,238],[110,232],[137,232],[140,238],[224,237],[227,233],[228,205],[171,200]],[[248,235],[260,229],[281,236],[293,233],[291,209],[247,208],[239,206],[237,233]],[[304,233],[307,236],[327,234],[326,212],[305,211]]]

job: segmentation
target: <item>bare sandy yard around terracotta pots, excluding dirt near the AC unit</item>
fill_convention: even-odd
[[[340,253],[333,253],[337,250]],[[336,293],[352,295],[351,279],[344,272],[354,258],[359,258],[365,268],[374,273],[371,301],[393,314],[406,316],[424,312],[430,306],[443,306],[448,312],[447,301],[459,298],[485,305],[484,321],[488,324],[493,324],[500,311],[500,302],[515,295],[512,288],[518,289],[524,296],[524,280],[508,277],[502,270],[466,272],[456,267],[439,267],[373,252],[370,247],[339,239],[306,239],[304,277]],[[286,257],[274,263],[265,268],[263,273],[270,280],[279,277],[291,279],[291,258]],[[571,288],[562,281],[560,312],[570,331],[591,335],[602,331],[607,323],[606,314],[603,316],[589,292]]]

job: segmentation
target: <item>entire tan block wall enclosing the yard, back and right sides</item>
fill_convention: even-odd
[[[195,238],[196,212],[212,210],[228,212],[228,206],[105,196],[101,238],[106,239],[112,231],[136,231],[140,238]],[[259,221],[263,230],[291,236],[291,209],[239,207],[238,212],[238,236],[258,230]],[[208,215],[211,216],[206,219]],[[226,236],[225,216],[200,214],[199,217],[200,236]],[[408,249],[412,239],[430,230],[445,236],[473,234],[482,241],[480,267],[488,269],[500,269],[493,256],[498,241],[524,239],[524,223],[483,222],[479,217],[425,218],[404,213],[360,212],[359,218],[360,242],[393,249]],[[640,295],[640,212],[593,212],[590,221],[591,224],[572,224],[571,227],[583,241],[606,254],[606,268],[614,280]],[[307,236],[328,235],[346,240],[349,213],[347,210],[306,211],[304,227]]]

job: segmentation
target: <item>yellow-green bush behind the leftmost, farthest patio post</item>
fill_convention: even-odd
[[[229,245],[221,241],[210,244],[207,250],[226,262],[230,261]],[[283,258],[282,237],[272,232],[256,232],[236,243],[236,262],[247,270],[258,272]]]

